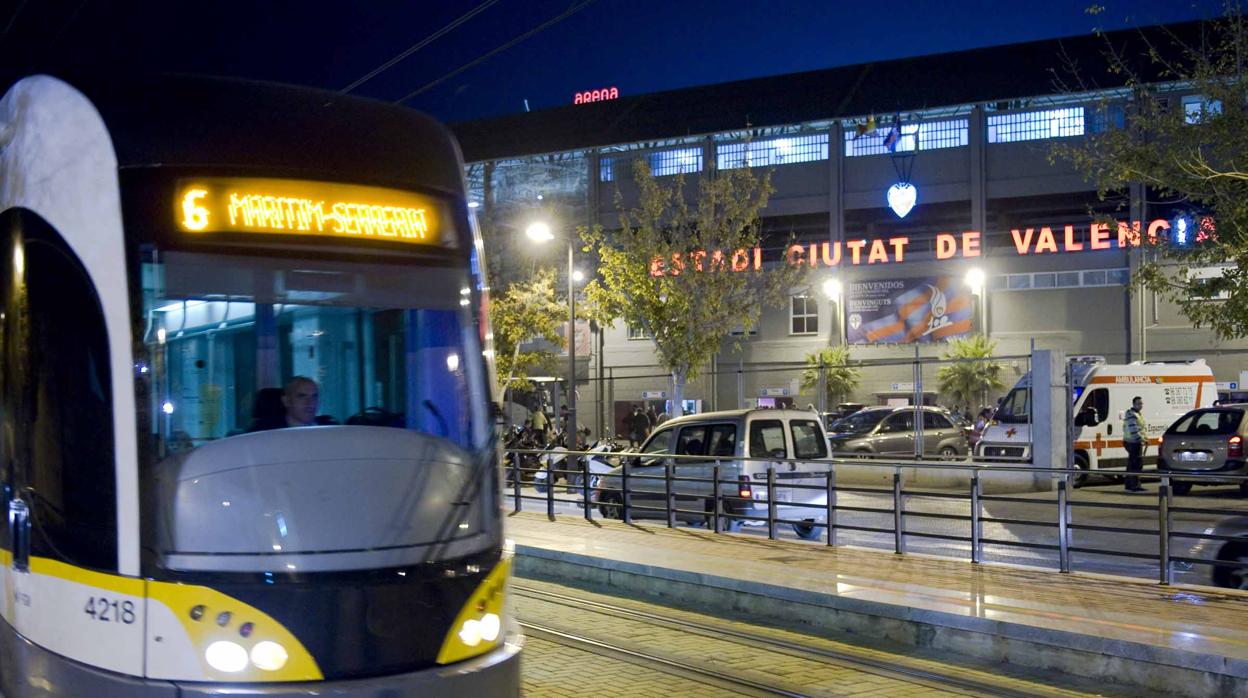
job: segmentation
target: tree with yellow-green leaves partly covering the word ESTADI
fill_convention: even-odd
[[[600,325],[624,321],[650,337],[671,375],[679,415],[685,383],[734,331],[755,327],[764,305],[785,302],[802,271],[782,262],[754,267],[763,242],[759,211],[773,191],[770,174],[720,170],[698,176],[694,187],[684,175],[655,177],[639,159],[634,181],[636,207],[626,209],[619,191],[615,195],[619,230],[579,230],[585,250],[599,260],[598,278],[585,296]]]

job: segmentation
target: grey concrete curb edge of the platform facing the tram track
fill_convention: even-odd
[[[1057,671],[1164,696],[1248,696],[1248,661],[1020,623],[845,598],[779,584],[515,546],[515,573],[731,612],[811,634],[860,634],[920,648]]]

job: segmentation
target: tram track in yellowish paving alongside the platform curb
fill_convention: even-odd
[[[604,603],[602,601],[595,601],[585,597],[578,597],[573,594],[552,592],[548,589],[525,587],[523,584],[518,584],[514,582],[512,584],[512,588],[517,593],[517,596],[530,601],[552,603],[587,613],[598,613],[602,616],[608,616],[615,619],[634,621],[634,622],[664,627],[683,633],[691,633],[718,641],[733,642],[736,644],[746,646],[751,649],[758,649],[760,652],[771,652],[771,653],[784,654],[787,657],[812,661],[840,669],[862,672],[866,674],[872,674],[894,681],[906,682],[910,684],[922,686],[925,688],[943,689],[943,691],[951,691],[973,696],[996,696],[1001,698],[1037,698],[1037,697],[1047,698],[1053,696],[1071,694],[1067,691],[1048,688],[1048,687],[1037,687],[1041,688],[1038,691],[1022,691],[1017,688],[1000,686],[997,683],[990,683],[987,681],[978,681],[976,678],[967,676],[953,676],[942,672],[927,671],[914,666],[902,666],[884,661],[875,661],[849,652],[837,652],[835,649],[830,649],[826,647],[812,647],[799,642],[791,642],[770,637],[763,633],[751,633],[728,623],[709,623],[709,622],[690,621],[686,618],[660,616],[658,613],[650,613],[636,608],[629,608],[625,606]],[[622,659],[628,659],[629,657],[631,657],[633,661],[635,662],[653,662],[653,664],[649,663],[646,664],[653,668],[666,667],[668,669],[671,671],[681,669],[684,672],[688,672],[688,674],[684,674],[686,677],[693,674],[728,683],[736,683],[743,688],[750,688],[751,691],[761,692],[760,694],[768,694],[768,696],[807,696],[807,693],[792,692],[791,687],[785,688],[785,687],[763,684],[753,679],[748,679],[740,676],[734,676],[731,673],[725,673],[720,669],[708,668],[705,666],[699,666],[691,662],[676,661],[671,659],[670,657],[661,657],[646,652],[640,652],[631,647],[620,647],[618,644],[613,644],[612,642],[604,642],[598,638],[580,637],[577,633],[567,633],[565,631],[562,629],[543,627],[540,624],[528,623],[524,621],[522,621],[520,624],[527,629],[533,628],[538,631],[540,633],[538,637],[545,637],[547,639],[560,642],[557,638],[564,636],[569,638],[568,643],[575,641],[583,648],[597,647],[599,653],[610,653],[612,656],[615,656]]]

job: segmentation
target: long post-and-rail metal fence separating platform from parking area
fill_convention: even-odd
[[[505,477],[514,511],[524,511],[525,502],[540,502],[552,521],[560,507],[579,508],[590,521],[595,516],[625,523],[653,518],[669,527],[684,521],[716,533],[738,531],[743,524],[765,526],[771,539],[786,526],[800,538],[824,537],[829,547],[879,546],[879,538],[886,537],[897,554],[915,551],[968,557],[975,563],[995,559],[1056,567],[1060,572],[1082,568],[1147,574],[1162,584],[1173,583],[1176,569],[1184,574],[1197,571],[1197,583],[1204,583],[1201,571],[1208,571],[1208,581],[1216,586],[1248,588],[1248,507],[1176,506],[1173,473],[1146,472],[1144,477],[1159,479],[1159,487],[1156,498],[1132,497],[1137,503],[1082,494],[1087,488],[1072,487],[1078,473],[1070,468],[922,460],[778,463],[774,458],[668,455],[643,461],[644,456],[623,453],[617,455],[617,467],[595,472],[589,457],[602,453],[509,453],[513,457]],[[562,456],[565,467],[550,467],[552,456]],[[534,457],[537,466],[532,465]],[[931,471],[963,473],[968,486],[925,487],[921,482]],[[552,481],[534,488],[532,482],[540,481],[540,472]],[[563,493],[572,497],[558,496],[553,481],[559,477],[564,478]],[[992,493],[996,484],[1020,477],[1047,481],[1053,488]],[[1183,473],[1182,481],[1243,483],[1248,476]],[[859,538],[846,541],[851,534]],[[986,557],[987,549],[1003,552]],[[1127,564],[1106,564],[1103,558]]]

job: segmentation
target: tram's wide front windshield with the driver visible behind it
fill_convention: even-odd
[[[307,420],[484,443],[462,268],[152,252],[142,281],[160,457]]]

